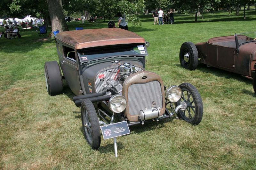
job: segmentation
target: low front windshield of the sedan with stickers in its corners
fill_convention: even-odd
[[[146,55],[146,49],[140,46],[113,46],[105,48],[82,49],[78,51],[81,61],[92,60],[96,58],[109,56],[125,56],[125,55]]]

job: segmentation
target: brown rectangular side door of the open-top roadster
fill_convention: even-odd
[[[235,69],[235,48],[218,46],[217,64],[218,67],[225,70]]]

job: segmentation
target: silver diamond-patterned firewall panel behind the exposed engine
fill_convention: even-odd
[[[140,67],[135,67],[135,69],[136,69],[137,71],[143,71],[143,69],[140,68]],[[111,68],[111,69],[108,69],[108,71],[117,72],[117,71],[118,71],[118,68],[117,68],[117,67],[116,67],[116,68]],[[96,76],[96,80],[95,80],[95,93],[99,93],[99,92],[105,90],[105,88],[103,87],[103,85],[105,84],[106,78],[109,77],[109,78],[112,78],[112,79],[113,79],[113,78],[115,77],[116,73],[112,73],[112,72],[108,72],[108,71],[102,71],[102,72],[100,72],[100,73]],[[100,81],[100,79],[99,79],[99,75],[100,75],[100,74],[104,74],[104,75],[105,75],[104,81]]]

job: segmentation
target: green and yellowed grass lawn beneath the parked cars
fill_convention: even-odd
[[[0,169],[256,169],[256,95],[252,81],[216,68],[180,66],[183,42],[255,30],[256,13],[243,19],[228,12],[175,14],[173,25],[153,25],[140,16],[132,27],[150,42],[146,70],[159,74],[166,86],[190,82],[204,103],[202,122],[192,126],[165,120],[131,127],[131,134],[103,140],[94,151],[84,140],[80,108],[74,94],[49,96],[44,62],[58,60],[54,39],[41,39],[35,29],[20,30],[21,39],[0,39]],[[70,22],[68,28],[104,28],[107,22]],[[2,31],[3,28],[1,27]],[[48,29],[48,32],[50,29]]]

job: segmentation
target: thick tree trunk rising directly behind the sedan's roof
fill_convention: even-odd
[[[47,4],[52,23],[52,31],[68,31],[68,25],[63,13],[61,0],[47,0]],[[53,34],[52,37],[54,37]]]

